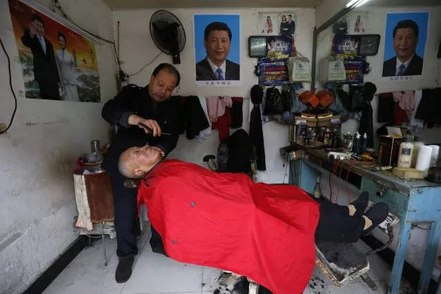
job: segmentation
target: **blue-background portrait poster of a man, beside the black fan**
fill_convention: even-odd
[[[239,14],[195,14],[197,86],[240,86]]]

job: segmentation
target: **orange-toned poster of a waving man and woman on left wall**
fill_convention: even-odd
[[[95,43],[21,1],[8,1],[26,98],[101,101]]]

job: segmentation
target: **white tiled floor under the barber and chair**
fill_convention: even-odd
[[[148,226],[149,227],[149,226]],[[135,265],[130,280],[125,284],[115,282],[116,239],[106,237],[108,266],[104,266],[103,246],[101,239],[92,246],[85,248],[50,284],[44,294],[208,294],[217,288],[220,271],[205,266],[180,264],[163,255],[152,252],[148,239],[150,230],[146,229],[138,240],[139,254],[135,257]],[[362,252],[371,248],[363,242],[357,246]],[[369,276],[378,285],[372,291],[361,278],[341,288],[333,286],[331,281],[317,268],[304,294],[348,293],[370,294],[387,293],[391,271],[389,266],[378,255],[369,257]],[[402,281],[400,293],[413,293],[409,284]],[[222,292],[221,292],[222,293]],[[228,292],[229,293],[229,292]]]

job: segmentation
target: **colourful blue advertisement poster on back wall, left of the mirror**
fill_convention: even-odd
[[[295,55],[294,41],[288,36],[268,36],[268,54],[259,59],[259,85],[281,86],[289,82],[289,57]]]

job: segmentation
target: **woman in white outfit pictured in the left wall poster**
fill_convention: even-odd
[[[58,32],[58,41],[61,49],[55,51],[58,72],[60,75],[61,88],[63,89],[62,99],[64,101],[78,101],[77,81],[75,79],[74,68],[77,68],[72,55],[66,50],[66,36]]]

